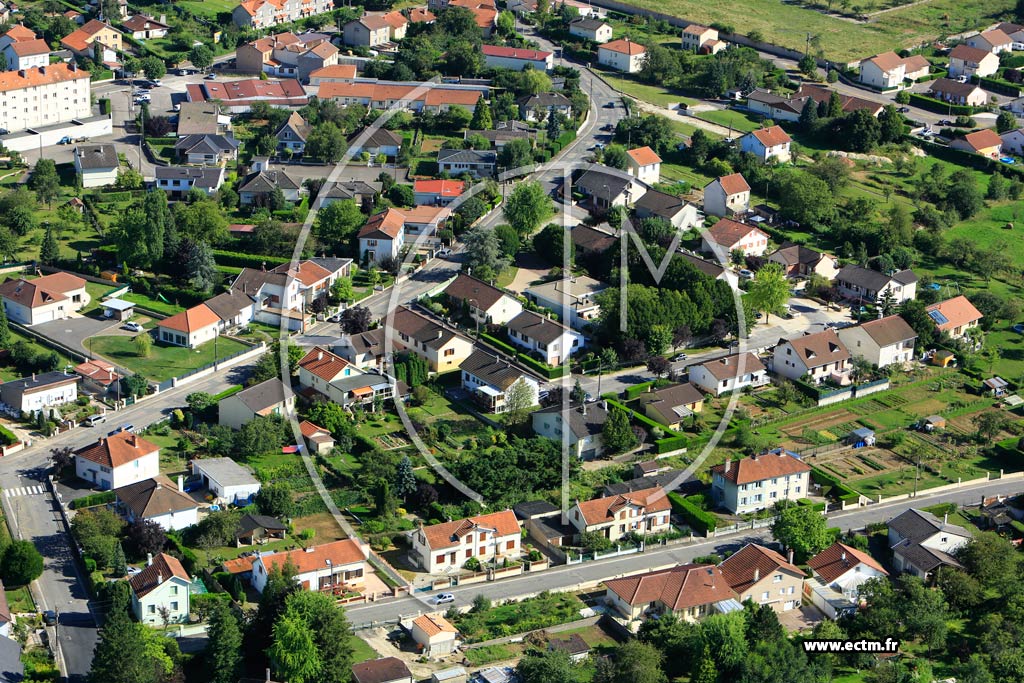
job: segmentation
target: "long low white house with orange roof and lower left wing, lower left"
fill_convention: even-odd
[[[344,539],[288,552],[260,553],[253,562],[252,584],[257,592],[266,588],[273,568],[295,567],[294,580],[304,591],[361,592],[366,588],[370,546]]]

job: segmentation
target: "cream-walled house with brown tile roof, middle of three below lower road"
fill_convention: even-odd
[[[768,605],[777,612],[800,607],[804,570],[770,548],[750,543],[718,565],[740,602]]]

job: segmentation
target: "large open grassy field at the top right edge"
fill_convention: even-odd
[[[725,0],[630,0],[629,4],[706,26],[731,24],[742,34],[757,31],[769,43],[800,51],[806,49],[808,35],[818,36],[825,57],[844,62],[990,24],[1013,9],[1011,0],[931,0],[856,24],[779,0],[743,0],[738,4]],[[865,11],[885,6],[874,0],[860,4]]]

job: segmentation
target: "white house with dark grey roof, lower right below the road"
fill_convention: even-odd
[[[943,566],[959,568],[953,554],[970,541],[966,528],[924,510],[910,508],[889,520],[893,568],[922,579]]]

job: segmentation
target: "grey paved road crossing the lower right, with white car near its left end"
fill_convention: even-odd
[[[911,507],[935,505],[937,503],[976,504],[982,496],[1010,495],[1024,488],[1020,479],[992,481],[977,486],[965,486],[961,490],[919,497],[914,502],[901,501],[891,505],[874,505],[841,512],[828,516],[829,526],[846,529],[863,528],[865,524],[884,522]],[[542,591],[578,590],[591,588],[607,579],[649,571],[692,561],[694,557],[710,553],[721,554],[726,550],[736,550],[751,542],[764,543],[770,540],[767,528],[751,530],[720,539],[707,539],[692,544],[657,547],[645,553],[625,557],[585,562],[571,566],[559,566],[538,575],[523,574],[489,584],[476,584],[465,588],[446,589],[456,597],[456,606],[467,606],[476,595],[482,594],[490,600],[507,600],[535,595]],[[356,627],[369,623],[392,622],[401,616],[434,611],[437,608],[428,602],[430,593],[391,599],[357,607],[346,611],[349,621]]]

